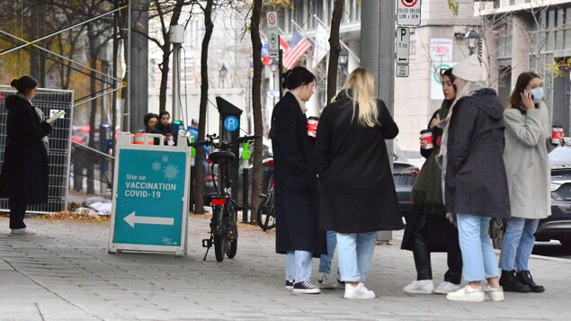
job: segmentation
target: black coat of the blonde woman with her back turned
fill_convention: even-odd
[[[397,137],[397,124],[378,101],[380,126],[359,125],[358,111],[352,120],[352,101],[340,95],[326,106],[317,128],[319,228],[341,233],[401,229],[385,144]]]

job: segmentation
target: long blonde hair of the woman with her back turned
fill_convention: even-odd
[[[352,99],[352,119],[355,119],[357,103],[359,104],[359,116],[357,122],[364,127],[379,125],[379,108],[375,98],[375,78],[365,68],[357,68],[347,77],[347,81],[341,88]],[[335,102],[335,98],[332,100]]]

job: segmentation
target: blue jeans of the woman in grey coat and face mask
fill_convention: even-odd
[[[505,271],[529,270],[528,262],[535,243],[533,234],[539,224],[539,219],[509,218],[507,220],[500,254],[500,269]]]

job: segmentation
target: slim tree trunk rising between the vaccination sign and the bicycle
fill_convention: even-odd
[[[208,0],[204,8],[204,39],[201,49],[201,109],[199,114],[198,140],[204,140],[206,130],[206,107],[209,98],[209,75],[208,75],[208,50],[214,24],[212,22],[212,6],[214,0]],[[194,213],[204,213],[204,148],[196,148],[196,161],[194,162]]]

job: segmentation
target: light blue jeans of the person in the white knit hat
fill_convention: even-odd
[[[464,280],[482,281],[498,277],[494,245],[488,234],[491,218],[470,214],[458,214],[457,218]]]

